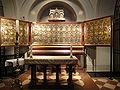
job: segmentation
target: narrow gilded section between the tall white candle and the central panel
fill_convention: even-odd
[[[28,22],[19,21],[19,45],[28,45]]]

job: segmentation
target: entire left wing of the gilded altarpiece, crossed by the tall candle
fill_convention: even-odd
[[[31,22],[0,17],[0,46],[20,46],[30,44]]]

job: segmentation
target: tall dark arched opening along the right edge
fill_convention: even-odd
[[[120,77],[120,0],[116,1],[113,19],[113,72]]]

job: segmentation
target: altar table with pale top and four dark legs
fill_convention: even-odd
[[[69,77],[68,83],[72,82],[72,66],[78,64],[78,59],[73,56],[33,56],[32,58],[26,58],[25,64],[31,65],[31,85],[36,85],[36,65],[43,65],[44,67],[44,83],[47,82],[46,78],[46,69],[47,65],[55,65],[56,66],[56,83],[59,83],[59,69],[60,65],[66,64],[69,66]]]

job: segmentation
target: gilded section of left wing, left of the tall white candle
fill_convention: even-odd
[[[15,45],[16,21],[1,18],[1,46]]]

